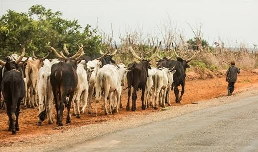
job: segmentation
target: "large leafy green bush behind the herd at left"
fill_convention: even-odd
[[[0,58],[19,54],[23,45],[26,55],[35,51],[42,57],[49,51],[46,45],[63,50],[64,43],[71,54],[78,50],[76,44],[82,43],[85,53],[93,55],[100,49],[101,36],[91,25],[83,29],[78,20],[63,19],[60,11],[42,5],[33,5],[25,13],[8,10],[0,17]]]

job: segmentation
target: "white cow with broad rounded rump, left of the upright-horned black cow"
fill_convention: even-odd
[[[105,108],[105,114],[108,115],[108,109],[107,109],[107,98],[109,96],[109,102],[110,102],[110,112],[112,114],[113,112],[113,104],[112,104],[112,92],[115,93],[117,96],[117,101],[120,102],[120,96],[122,92],[122,86],[121,86],[121,79],[119,76],[119,72],[117,67],[114,65],[105,65],[102,68],[99,69],[97,73],[97,79],[96,79],[96,102],[98,102],[102,97],[102,88],[104,90],[104,108]],[[114,109],[115,112],[118,112],[119,104],[116,104],[116,108]],[[95,109],[96,116],[97,116],[97,109]]]

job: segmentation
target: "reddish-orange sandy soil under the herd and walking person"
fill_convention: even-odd
[[[189,74],[190,75],[190,74]],[[191,78],[192,79],[192,78]],[[227,82],[225,81],[225,77],[221,78],[213,78],[213,79],[196,79],[191,80],[188,78],[186,80],[186,89],[181,104],[176,104],[174,102],[175,97],[174,93],[171,92],[171,102],[172,106],[182,106],[185,104],[191,104],[196,101],[200,100],[207,100],[211,98],[226,96],[227,94]],[[258,74],[255,72],[247,72],[242,71],[241,75],[239,75],[238,82],[235,85],[236,92],[241,91],[246,88],[258,88]],[[115,115],[104,115],[104,111],[101,108],[102,102],[99,103],[98,106],[98,117],[93,117],[93,115],[89,115],[84,113],[81,116],[81,119],[77,119],[72,116],[72,123],[66,125],[65,130],[74,127],[80,127],[89,124],[95,124],[100,122],[105,122],[108,120],[121,120],[127,116],[135,116],[135,115],[147,115],[152,112],[156,112],[152,108],[148,110],[141,110],[141,102],[137,99],[137,109],[136,112],[128,112],[126,111],[126,103],[127,103],[127,90],[123,91],[122,93],[122,103],[124,109],[120,109],[118,114]],[[93,104],[92,104],[93,105]],[[54,110],[55,111],[55,110]],[[157,111],[160,111],[157,110]],[[66,115],[66,112],[64,113]],[[7,132],[7,115],[5,111],[0,110],[0,147],[4,146],[5,144],[11,144],[12,142],[20,141],[27,138],[38,137],[41,135],[49,135],[53,133],[59,133],[63,130],[58,130],[55,124],[47,125],[47,121],[43,123],[42,126],[37,126],[37,116],[38,110],[37,109],[26,109],[21,110],[20,117],[19,117],[19,126],[20,131],[15,135],[11,136],[10,132]],[[64,117],[66,118],[66,116]],[[64,120],[65,123],[65,120]]]

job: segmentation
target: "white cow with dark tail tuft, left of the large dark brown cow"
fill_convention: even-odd
[[[39,69],[38,75],[38,97],[39,97],[39,119],[38,125],[48,116],[48,124],[53,124],[52,107],[53,107],[53,92],[50,84],[51,67],[53,64],[59,63],[54,59],[51,62],[48,59],[44,60],[44,65]]]

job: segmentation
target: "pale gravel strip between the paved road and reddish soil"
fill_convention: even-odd
[[[151,122],[170,119],[181,116],[193,111],[227,104],[236,100],[254,96],[258,94],[258,88],[249,88],[239,91],[233,96],[215,98],[207,101],[198,101],[195,104],[184,106],[168,107],[164,111],[150,113],[148,115],[126,116],[122,120],[111,120],[107,122],[91,124],[78,128],[63,130],[61,133],[44,135],[40,137],[28,138],[23,141],[8,143],[0,148],[1,152],[50,152],[56,149],[62,149],[64,146],[73,146],[74,144],[83,143],[87,140],[124,130],[138,127]],[[64,127],[65,128],[65,127]],[[123,135],[121,135],[123,136]]]

